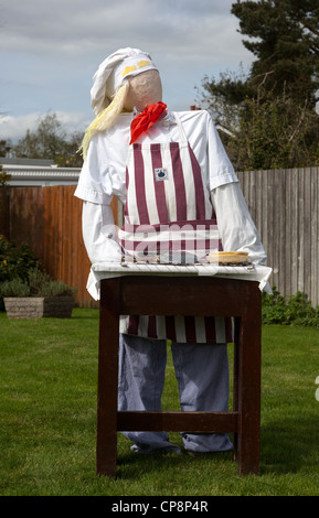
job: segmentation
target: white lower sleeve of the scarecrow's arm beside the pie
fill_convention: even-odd
[[[238,183],[211,191],[224,251],[245,251],[255,265],[266,265],[267,256]]]

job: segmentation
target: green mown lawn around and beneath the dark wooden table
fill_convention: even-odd
[[[136,455],[120,434],[117,479],[97,476],[97,310],[39,321],[0,313],[0,495],[319,495],[318,330],[263,327],[262,470],[247,477],[231,453]],[[178,409],[171,360],[163,407]]]

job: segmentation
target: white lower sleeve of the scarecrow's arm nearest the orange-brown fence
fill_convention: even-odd
[[[118,262],[121,249],[116,242],[116,226],[109,205],[83,202],[82,231],[89,260]]]

